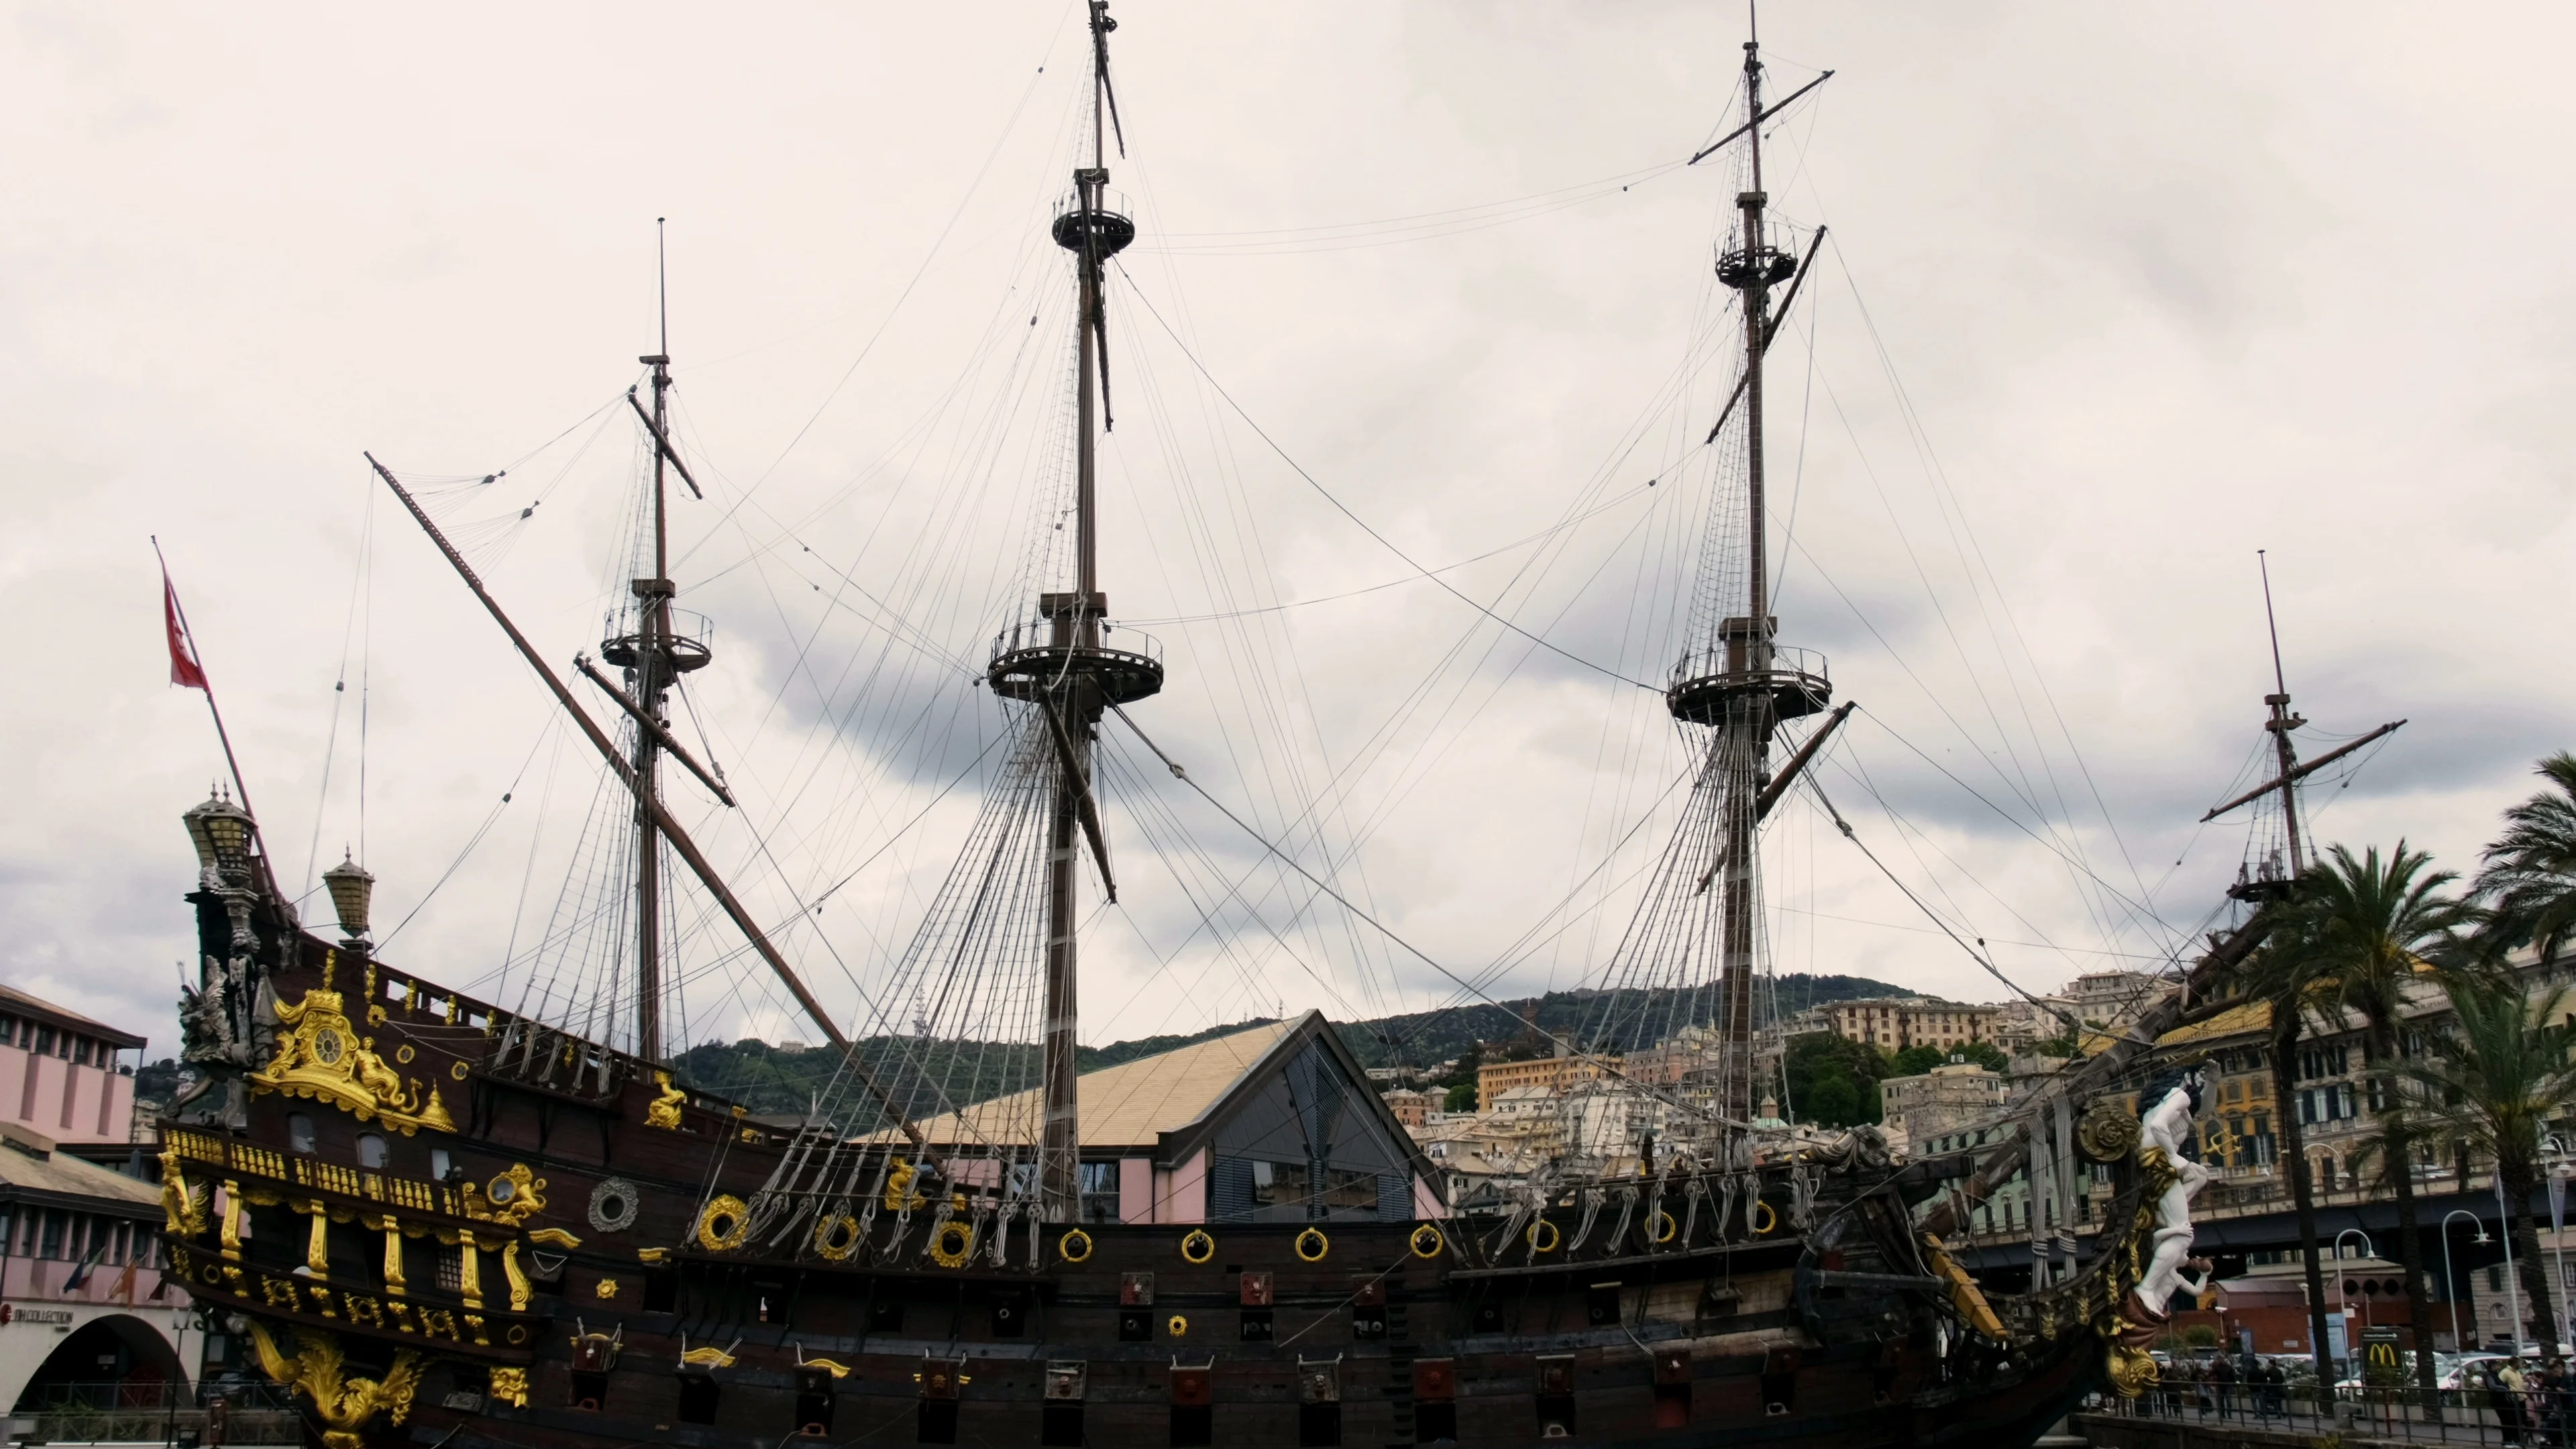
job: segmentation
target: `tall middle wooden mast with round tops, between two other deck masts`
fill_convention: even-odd
[[[1046,743],[1041,748],[1054,755],[1046,841],[1046,1016],[1041,1026],[1046,1119],[1038,1134],[1038,1194],[1048,1222],[1074,1222],[1082,1214],[1082,1122],[1074,1096],[1079,1026],[1074,926],[1082,838],[1090,841],[1110,900],[1118,900],[1118,887],[1108,874],[1100,812],[1092,802],[1092,743],[1108,706],[1162,688],[1162,663],[1144,652],[1110,650],[1103,642],[1108,596],[1100,590],[1097,433],[1110,425],[1105,273],[1108,260],[1136,240],[1136,224],[1118,214],[1108,196],[1108,142],[1118,129],[1108,39],[1118,21],[1110,18],[1108,0],[1090,0],[1090,15],[1092,165],[1074,170],[1074,193],[1054,222],[1056,245],[1074,253],[1077,289],[1074,590],[1041,593],[1038,619],[1007,629],[994,642],[987,670],[994,694],[1033,701],[1043,712]],[[1123,137],[1121,155],[1126,155]]]

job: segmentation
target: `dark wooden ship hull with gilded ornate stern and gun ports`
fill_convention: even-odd
[[[788,1137],[330,946],[265,892],[196,902],[216,964],[193,1026],[222,995],[270,1024],[245,1021],[237,1065],[201,1057],[165,1124],[167,1250],[330,1449],[2009,1449],[2102,1377],[2117,1250],[1981,1330],[1984,1299],[1909,1250],[1906,1199],[1963,1171],[1937,1163],[1765,1165],[1731,1232],[1669,1181],[1654,1212],[1589,1225],[1566,1201],[1311,1232],[1018,1222],[989,1243],[873,1204],[747,1243],[726,1199]]]

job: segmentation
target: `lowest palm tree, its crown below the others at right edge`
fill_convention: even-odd
[[[2509,972],[2455,972],[2442,977],[2442,993],[2450,1026],[2429,1031],[2421,1055],[2388,1062],[2388,1078],[2419,1129],[2450,1132],[2496,1163],[2522,1292],[2540,1343],[2558,1343],[2532,1191],[2540,1186],[2540,1134],[2553,1116],[2576,1109],[2576,1031],[2561,1021],[2566,987],[2545,985],[2535,995]]]

